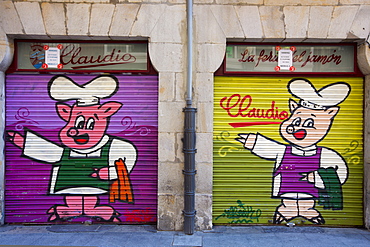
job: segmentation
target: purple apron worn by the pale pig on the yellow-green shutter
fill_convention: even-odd
[[[281,174],[281,184],[278,196],[284,193],[306,193],[318,197],[318,189],[313,183],[301,181],[301,173],[317,171],[320,168],[321,147],[313,156],[298,156],[292,154],[292,147],[287,146],[280,166],[274,176]]]

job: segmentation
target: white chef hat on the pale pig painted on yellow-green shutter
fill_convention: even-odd
[[[342,103],[349,95],[351,87],[346,82],[335,82],[320,90],[307,79],[293,79],[288,83],[289,92],[300,99],[300,105],[310,109],[327,109]]]

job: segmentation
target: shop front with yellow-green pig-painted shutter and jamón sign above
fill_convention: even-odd
[[[361,76],[352,44],[227,44],[213,223],[362,226]]]

